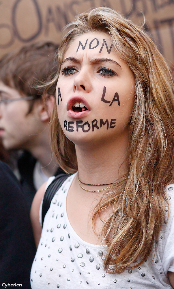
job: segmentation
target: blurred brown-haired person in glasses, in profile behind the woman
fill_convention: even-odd
[[[0,138],[7,150],[24,150],[18,170],[29,210],[36,190],[59,173],[49,127],[55,86],[47,90],[45,102],[42,98],[43,82],[57,71],[57,48],[52,42],[38,42],[0,60]]]

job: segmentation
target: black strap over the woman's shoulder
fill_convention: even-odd
[[[59,190],[63,182],[68,178],[69,176],[66,174],[59,174],[55,177],[55,179],[51,182],[51,184],[46,189],[46,192],[44,194],[44,199],[42,203],[42,226],[44,223],[45,215],[50,208],[51,201],[55,195],[55,193]]]

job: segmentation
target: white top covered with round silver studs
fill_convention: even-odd
[[[153,249],[147,261],[138,268],[125,270],[121,274],[108,274],[102,268],[100,257],[105,249],[79,238],[68,220],[66,196],[74,176],[70,176],[55,194],[45,216],[31,269],[31,288],[172,288],[167,271],[174,272],[174,185],[166,188],[171,196],[170,216],[160,232],[155,256]],[[53,179],[50,178],[48,184]],[[165,219],[167,215],[166,207]]]

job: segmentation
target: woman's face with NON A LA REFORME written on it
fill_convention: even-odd
[[[60,125],[75,144],[128,137],[134,75],[104,33],[86,33],[66,51],[57,81]]]

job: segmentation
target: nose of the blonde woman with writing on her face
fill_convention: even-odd
[[[81,68],[81,70],[76,74],[74,78],[74,92],[75,91],[91,91],[91,76],[89,71],[85,68]]]

